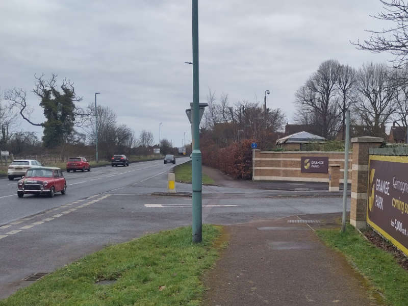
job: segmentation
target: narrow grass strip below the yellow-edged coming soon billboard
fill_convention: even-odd
[[[390,305],[408,304],[408,271],[397,264],[392,254],[374,246],[351,225],[344,234],[339,230],[316,232],[324,243],[344,253]]]

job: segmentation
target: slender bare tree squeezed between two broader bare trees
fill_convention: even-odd
[[[337,80],[339,99],[337,105],[342,114],[342,139],[345,137],[346,112],[356,101],[356,71],[349,65],[339,64]]]

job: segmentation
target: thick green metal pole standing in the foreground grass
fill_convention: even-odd
[[[193,36],[193,107],[191,112],[191,126],[193,132],[192,161],[192,240],[202,240],[202,206],[201,206],[201,151],[199,138],[199,80],[198,80],[198,0],[192,0],[192,36]]]

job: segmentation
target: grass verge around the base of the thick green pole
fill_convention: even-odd
[[[200,282],[224,245],[222,228],[203,225],[203,241],[191,242],[191,227],[108,246],[20,289],[1,306],[19,305],[199,305]],[[116,280],[108,285],[98,281]]]

